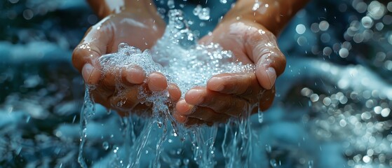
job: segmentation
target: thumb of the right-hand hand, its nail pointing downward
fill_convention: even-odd
[[[259,84],[271,89],[276,77],[285,70],[286,59],[276,43],[276,37],[270,31],[260,27],[258,31],[245,36],[245,50],[256,64],[256,76]]]

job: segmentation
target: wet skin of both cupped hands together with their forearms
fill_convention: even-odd
[[[252,2],[252,3],[251,3]],[[276,3],[276,1],[273,1]],[[303,1],[303,5],[306,1]],[[99,1],[91,1],[97,6]],[[72,61],[76,69],[81,71],[88,85],[95,85],[91,96],[95,102],[116,109],[121,115],[128,111],[148,111],[150,108],[140,104],[137,98],[138,88],[144,87],[148,92],[168,89],[170,99],[177,102],[173,116],[180,123],[195,125],[201,123],[224,122],[229,117],[241,116],[243,111],[255,112],[254,104],[259,103],[262,111],[271,106],[274,97],[274,83],[277,76],[285,69],[285,57],[278,49],[276,34],[279,29],[275,25],[285,25],[292,13],[299,10],[294,8],[287,17],[268,22],[252,10],[254,1],[238,1],[236,6],[225,15],[222,22],[209,36],[201,39],[200,43],[219,43],[225,50],[231,50],[234,56],[245,64],[255,64],[255,73],[222,73],[208,80],[206,86],[198,86],[185,93],[180,99],[180,89],[173,83],[168,83],[161,73],[144,74],[140,67],[127,67],[121,71],[121,83],[128,86],[126,102],[118,106],[123,99],[116,97],[115,76],[102,76],[97,58],[101,55],[116,52],[119,43],[126,42],[142,50],[151,48],[160,38],[165,29],[165,23],[156,14],[156,8],[151,1],[125,1],[121,10],[113,11],[100,6],[95,10],[100,16],[110,15],[91,27],[78,47],[74,50]],[[285,1],[288,6],[297,1]],[[289,8],[288,6],[283,6]],[[272,8],[273,7],[273,8]],[[282,6],[272,6],[266,13],[280,13]],[[276,9],[279,7],[279,11]],[[102,9],[103,8],[103,9]],[[285,11],[285,10],[282,10]],[[264,13],[265,14],[265,13]],[[267,15],[269,16],[269,15]],[[268,29],[267,29],[268,28]],[[269,31],[273,29],[273,32]],[[120,72],[119,72],[120,73]],[[260,94],[260,93],[263,94]]]

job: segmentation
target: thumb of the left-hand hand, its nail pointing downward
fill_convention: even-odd
[[[97,65],[97,57],[107,52],[107,45],[112,38],[111,27],[102,27],[106,20],[101,20],[88,29],[86,36],[72,53],[72,64],[82,72],[84,80],[89,84],[96,84],[99,80],[100,67]],[[89,63],[90,65],[88,65]]]

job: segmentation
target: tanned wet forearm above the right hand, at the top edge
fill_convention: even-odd
[[[309,0],[238,0],[225,20],[257,22],[276,36]]]

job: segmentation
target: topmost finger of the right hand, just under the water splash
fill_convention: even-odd
[[[255,73],[221,73],[207,82],[208,90],[248,97],[257,94],[259,86]]]

